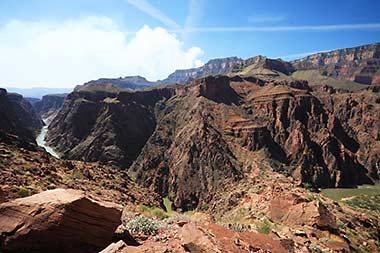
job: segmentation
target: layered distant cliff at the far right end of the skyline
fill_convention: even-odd
[[[380,44],[318,53],[292,62],[300,70],[319,69],[322,74],[362,84],[380,84]]]

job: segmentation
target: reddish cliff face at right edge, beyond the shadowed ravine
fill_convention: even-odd
[[[380,91],[371,87],[355,93],[320,95],[356,145],[356,157],[374,179],[380,178]]]

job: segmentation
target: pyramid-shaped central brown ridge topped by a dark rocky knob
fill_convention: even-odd
[[[223,97],[215,90],[223,90]],[[227,77],[207,77],[177,90],[162,105],[153,135],[130,167],[140,184],[182,210],[200,208],[241,176],[213,117],[240,98]],[[207,98],[206,98],[207,97]]]

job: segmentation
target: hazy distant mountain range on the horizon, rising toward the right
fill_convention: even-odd
[[[84,84],[112,84],[120,88],[144,89],[162,84],[187,83],[208,75],[251,75],[279,74],[289,75],[297,71],[316,70],[323,77],[355,82],[356,84],[380,84],[380,44],[373,43],[353,48],[339,49],[331,52],[317,53],[291,62],[281,59],[270,59],[265,56],[255,56],[243,60],[238,57],[218,58],[208,61],[201,67],[176,70],[166,79],[148,81],[141,76],[124,78],[101,78]],[[311,77],[310,73],[313,73]],[[297,73],[298,74],[298,73]],[[315,81],[315,72],[303,72],[302,77]],[[331,80],[330,80],[331,81]],[[76,89],[83,87],[77,86]]]

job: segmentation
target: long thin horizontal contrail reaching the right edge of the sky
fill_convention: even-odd
[[[301,26],[238,26],[238,27],[190,27],[186,32],[292,32],[292,31],[344,31],[344,30],[380,30],[380,23],[334,24]],[[183,32],[183,29],[172,32]]]

